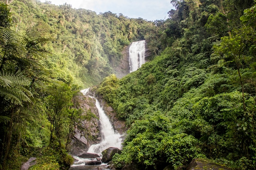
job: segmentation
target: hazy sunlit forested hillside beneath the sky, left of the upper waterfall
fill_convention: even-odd
[[[130,19],[110,11],[97,15],[73,9],[70,4],[12,0],[9,9],[13,30],[37,32],[47,40],[44,60],[53,78],[85,87],[99,84],[113,73],[124,46],[156,34],[154,24],[141,18]]]

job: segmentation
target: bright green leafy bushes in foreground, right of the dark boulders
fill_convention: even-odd
[[[170,125],[170,119],[160,113],[135,121],[124,142],[124,155],[115,155],[114,165],[121,168],[124,163],[135,162],[141,169],[158,169],[170,163],[173,168],[188,163],[199,151],[198,141],[184,133],[176,134]]]

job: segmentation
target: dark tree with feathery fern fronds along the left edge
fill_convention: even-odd
[[[0,8],[0,158],[4,167],[11,149],[13,128],[17,124],[15,119],[24,103],[31,102],[32,93],[27,90],[28,78],[21,69],[26,62],[25,48],[18,33],[8,28],[7,5],[0,3]]]

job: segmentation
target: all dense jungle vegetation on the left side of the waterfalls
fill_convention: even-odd
[[[79,91],[111,75],[124,46],[161,44],[142,18],[97,15],[69,4],[0,1],[0,170],[67,169],[74,127],[93,115],[79,109]]]

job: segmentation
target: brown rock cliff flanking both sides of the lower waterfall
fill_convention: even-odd
[[[90,95],[94,95],[89,92]],[[106,115],[114,126],[114,130],[120,134],[125,134],[127,128],[124,121],[120,121],[115,116],[116,113],[112,107],[108,106],[105,100],[98,96],[97,99],[103,106]],[[101,141],[101,127],[99,113],[95,106],[95,99],[81,94],[79,97],[79,106],[83,109],[83,114],[93,114],[88,120],[82,121],[80,126],[74,129],[74,135],[70,143],[69,152],[71,155],[82,155],[86,153],[92,144],[98,144]],[[124,135],[125,136],[125,135]]]

